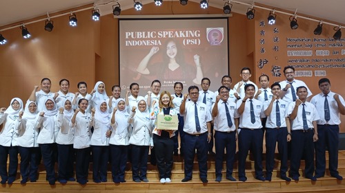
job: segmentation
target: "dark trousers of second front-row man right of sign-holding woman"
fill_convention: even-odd
[[[233,176],[233,168],[236,153],[236,136],[235,131],[219,132],[215,131],[215,173],[216,177],[221,177],[221,170],[223,170],[224,149],[226,149],[226,177]]]

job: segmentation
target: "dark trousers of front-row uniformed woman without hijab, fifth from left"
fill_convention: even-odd
[[[88,181],[88,168],[90,163],[90,148],[75,149],[75,175],[77,182]]]

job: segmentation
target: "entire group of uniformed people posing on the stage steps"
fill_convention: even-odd
[[[311,91],[304,82],[294,78],[294,73],[293,67],[285,67],[286,80],[271,85],[269,77],[262,75],[259,77],[261,88],[258,88],[249,80],[250,69],[244,67],[240,73],[242,80],[233,89],[230,89],[230,76],[221,78],[221,87],[215,92],[208,89],[210,79],[202,78],[200,90],[193,85],[185,94],[181,82],[175,82],[175,93],[170,94],[160,91],[161,82],[153,80],[151,91],[145,97],[139,95],[139,84],[133,82],[125,98],[120,97],[119,86],[113,86],[112,95],[108,97],[101,81],[90,93],[86,82],[79,82],[79,92],[74,94],[68,91],[70,82],[63,79],[59,82],[60,90],[52,93],[51,81],[43,78],[41,89],[37,91],[39,87],[34,87],[25,108],[20,98],[13,98],[7,109],[0,109],[1,184],[16,180],[18,153],[21,183],[37,181],[38,166],[43,158],[50,185],[56,180],[59,183],[75,181],[74,161],[77,182],[86,184],[90,154],[95,183],[107,181],[108,162],[112,181],[126,182],[128,157],[132,163],[132,180],[148,182],[149,152],[151,163],[157,164],[159,181],[169,183],[173,156],[178,155],[178,150],[184,157],[182,182],[193,178],[195,152],[203,183],[208,182],[208,154],[215,154],[215,181],[222,180],[224,156],[226,179],[237,181],[233,177],[237,144],[239,181],[247,179],[245,166],[249,150],[255,159],[255,179],[271,181],[276,144],[281,179],[299,180],[303,156],[305,177],[312,181],[324,177],[327,148],[330,174],[341,180],[337,156],[339,114],[345,115],[344,98],[331,91],[328,78],[319,80],[321,93],[311,98]],[[177,128],[160,128],[157,119],[161,115],[177,116]],[[264,136],[266,174],[262,166]],[[290,177],[286,174],[289,141]]]

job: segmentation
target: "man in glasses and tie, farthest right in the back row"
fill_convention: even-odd
[[[286,102],[295,102],[297,99],[297,87],[306,87],[308,91],[308,97],[311,97],[313,93],[311,93],[311,90],[306,86],[306,83],[304,83],[302,80],[296,80],[295,79],[295,68],[291,66],[284,67],[284,76],[286,80],[283,80],[282,82],[279,82],[280,86],[282,86],[282,93],[280,93],[280,98],[282,100],[285,100]],[[308,99],[307,99],[308,101]]]

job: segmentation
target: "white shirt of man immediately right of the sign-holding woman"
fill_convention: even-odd
[[[197,132],[197,128],[195,126],[195,103],[193,101],[186,101],[185,111],[182,115],[184,116],[184,132],[192,135],[208,132],[207,122],[212,121],[212,116],[210,111],[208,111],[206,104],[203,102],[197,102],[197,115],[199,117],[201,128],[200,132]]]

